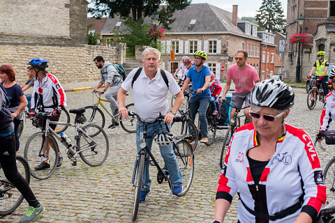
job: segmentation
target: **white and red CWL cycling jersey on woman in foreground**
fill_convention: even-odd
[[[301,211],[316,217],[326,201],[322,169],[311,137],[291,125],[284,124],[284,128],[285,134],[278,139],[276,152],[262,171],[258,184],[253,181],[246,157],[250,148],[259,145],[253,123],[238,128],[232,136],[218,180],[216,199],[231,202],[239,192],[237,217],[240,221],[266,222],[249,213],[241,201],[251,210],[274,215],[299,203],[299,197],[304,194],[302,208],[276,223],[295,222]]]

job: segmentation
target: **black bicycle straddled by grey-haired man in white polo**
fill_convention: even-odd
[[[137,116],[135,114],[135,116]],[[164,116],[160,116],[156,119],[156,121],[163,121]],[[174,117],[174,121],[181,121],[180,116]],[[133,204],[133,222],[135,222],[137,218],[137,212],[140,205],[140,194],[141,189],[143,186],[143,177],[144,176],[144,163],[149,162],[151,166],[156,166],[158,170],[157,174],[157,182],[159,184],[163,182],[168,182],[170,189],[172,190],[172,183],[170,181],[170,176],[168,174],[168,169],[161,168],[156,161],[154,155],[152,155],[151,151],[147,147],[145,143],[146,139],[146,132],[140,134],[140,147],[142,148],[138,153],[135,161],[135,167],[133,171],[133,178],[132,183],[133,187],[135,187],[135,197],[134,197],[134,204]],[[181,197],[184,196],[191,187],[191,183],[193,180],[193,172],[194,172],[194,156],[192,151],[191,144],[188,143],[185,139],[177,138],[177,141],[173,142],[173,150],[174,155],[177,156],[179,169],[181,174],[183,175],[183,188],[182,191],[177,194],[177,196]]]

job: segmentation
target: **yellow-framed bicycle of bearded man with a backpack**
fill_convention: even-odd
[[[108,128],[115,128],[117,126],[117,123],[120,123],[121,127],[129,133],[134,133],[136,131],[136,119],[134,116],[130,116],[126,120],[119,120],[119,114],[113,115],[109,109],[103,105],[103,102],[108,102],[108,100],[105,100],[101,98],[101,94],[98,93],[99,91],[94,91],[96,98],[98,98],[98,101],[94,103],[94,105],[84,107],[86,109],[85,116],[89,117],[87,120],[87,123],[101,123],[99,126],[101,128],[105,127],[105,115],[103,114],[103,111],[98,108],[98,105],[101,105],[101,107],[107,112],[107,114],[112,118],[112,125],[110,125]],[[126,109],[135,112],[134,104],[128,104],[126,105]]]

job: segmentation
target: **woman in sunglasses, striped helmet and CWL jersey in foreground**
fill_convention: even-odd
[[[326,201],[322,169],[311,137],[285,123],[295,93],[267,79],[251,90],[253,123],[238,128],[228,146],[213,222],[223,222],[239,192],[242,222],[313,222]]]

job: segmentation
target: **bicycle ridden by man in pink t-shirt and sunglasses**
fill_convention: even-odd
[[[236,107],[234,105],[232,105],[230,102],[228,102],[228,100],[224,100],[230,107],[233,107],[235,109],[235,113],[234,116],[231,118],[229,117],[229,124],[228,124],[228,130],[225,132],[225,137],[223,139],[223,145],[222,145],[222,149],[221,149],[221,156],[220,156],[220,167],[222,169],[223,167],[223,155],[225,153],[225,147],[228,148],[229,146],[229,141],[232,137],[232,134],[234,134],[235,130],[237,128],[239,128],[239,126],[241,125],[241,121],[240,118],[244,117],[244,114],[239,115],[239,112],[241,111],[241,109],[246,109],[247,107]],[[230,114],[229,114],[230,116]],[[246,124],[246,118],[244,118],[244,124]]]

